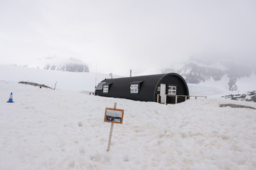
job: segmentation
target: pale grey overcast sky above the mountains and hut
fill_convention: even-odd
[[[252,64],[255,31],[255,0],[0,0],[0,64],[75,57],[114,74],[190,57]]]

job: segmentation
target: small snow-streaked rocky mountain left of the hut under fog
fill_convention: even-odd
[[[58,57],[44,57],[37,61],[38,64],[28,64],[28,67],[50,69],[63,72],[90,72],[85,62],[70,57],[68,59]]]

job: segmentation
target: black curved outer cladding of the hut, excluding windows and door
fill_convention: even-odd
[[[131,94],[130,85],[134,81],[143,81],[139,84],[139,93]],[[166,84],[166,94],[169,84],[177,85],[177,94],[189,95],[186,81],[178,74],[155,74],[142,77],[124,77],[118,79],[105,79],[102,82],[112,83],[107,94],[102,90],[95,90],[95,95],[114,98],[127,98],[134,101],[156,101],[157,87]]]

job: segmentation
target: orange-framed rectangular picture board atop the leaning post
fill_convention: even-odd
[[[104,121],[108,123],[122,124],[124,110],[117,108],[106,108]]]

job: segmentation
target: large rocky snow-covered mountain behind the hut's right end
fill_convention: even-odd
[[[162,70],[162,72],[177,72],[189,84],[200,84],[210,80],[220,81],[223,78],[228,78],[226,84],[229,91],[241,90],[238,86],[240,79],[255,77],[255,70],[252,67],[240,64],[208,65],[199,62],[187,62],[179,68],[171,67]]]

